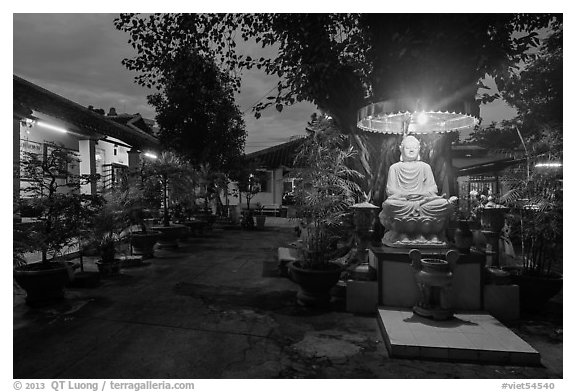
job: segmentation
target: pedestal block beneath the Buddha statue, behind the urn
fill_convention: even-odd
[[[376,270],[378,305],[412,308],[418,301],[418,287],[411,267],[410,248],[372,246],[368,260]],[[422,258],[445,259],[450,248],[419,249]],[[461,254],[454,269],[452,304],[455,310],[483,309],[483,271],[485,255]]]

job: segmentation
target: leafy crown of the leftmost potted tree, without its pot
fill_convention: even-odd
[[[77,242],[80,228],[102,203],[99,196],[79,194],[81,185],[96,178],[72,174],[69,168],[77,159],[72,151],[53,145],[45,157],[24,153],[20,162],[22,178],[28,181],[22,193],[38,212],[38,223],[28,230],[26,238],[29,247],[42,253],[43,264],[57,259]]]

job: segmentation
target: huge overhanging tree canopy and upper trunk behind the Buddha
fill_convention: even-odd
[[[374,189],[379,203],[387,173],[380,155],[394,141],[358,131],[357,110],[371,102],[412,98],[430,109],[478,115],[480,102],[497,97],[483,93],[481,80],[490,75],[502,88],[538,45],[536,31],[559,19],[549,14],[122,14],[116,27],[130,34],[137,55],[124,64],[139,72],[142,85],[161,83],[161,71],[181,48],[214,59],[236,89],[242,69],[256,67],[278,77],[276,93],[255,105],[255,115],[300,101],[316,104],[343,133],[353,135],[363,187]],[[252,58],[242,52],[240,39],[276,50]],[[434,148],[438,173],[445,172],[449,159],[440,144],[448,142],[441,138]]]

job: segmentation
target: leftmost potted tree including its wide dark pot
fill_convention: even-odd
[[[22,194],[38,212],[32,223],[15,224],[17,258],[14,279],[27,292],[29,305],[43,305],[64,297],[73,278],[73,263],[64,255],[78,243],[83,227],[101,204],[97,196],[79,194],[82,184],[96,179],[77,176],[71,167],[77,156],[59,145],[50,145],[44,156],[24,153],[20,162],[25,186]],[[25,263],[21,251],[39,251],[41,261]]]

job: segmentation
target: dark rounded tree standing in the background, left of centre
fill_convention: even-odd
[[[148,97],[156,108],[162,145],[196,166],[230,166],[246,139],[230,78],[210,59],[185,50],[162,75],[162,91]]]

